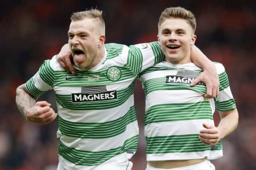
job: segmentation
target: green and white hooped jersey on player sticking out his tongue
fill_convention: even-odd
[[[134,83],[138,73],[163,60],[157,42],[106,44],[91,70],[68,74],[57,56],[26,82],[34,96],[53,89],[58,107],[58,154],[68,170],[90,170],[116,155],[131,158],[138,142]],[[122,160],[120,160],[122,161]]]

